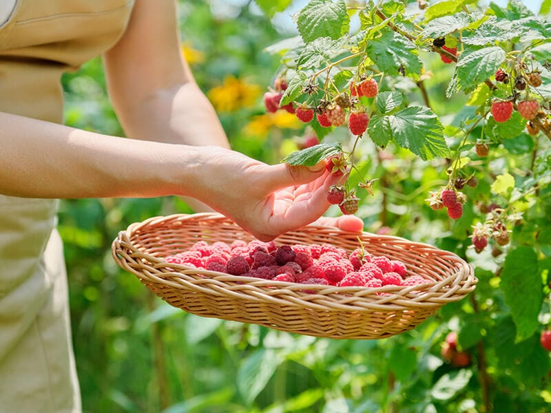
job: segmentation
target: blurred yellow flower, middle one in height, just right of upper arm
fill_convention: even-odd
[[[259,85],[246,83],[234,76],[226,76],[222,85],[213,87],[207,93],[218,112],[233,112],[242,107],[251,107],[256,104],[259,95]]]

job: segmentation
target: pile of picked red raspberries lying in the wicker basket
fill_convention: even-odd
[[[372,255],[363,247],[347,253],[332,244],[276,246],[273,242],[201,240],[188,251],[165,261],[200,270],[244,275],[273,281],[328,286],[415,286],[430,280],[408,275],[406,265],[384,255]]]

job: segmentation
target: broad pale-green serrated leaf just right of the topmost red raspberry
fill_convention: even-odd
[[[479,83],[495,74],[503,61],[505,61],[505,50],[497,46],[466,50],[461,53],[455,67],[457,90],[472,92]]]

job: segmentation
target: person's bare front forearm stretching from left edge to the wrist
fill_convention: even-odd
[[[0,192],[30,198],[194,195],[194,147],[95,134],[0,113]],[[177,149],[175,149],[177,147]]]

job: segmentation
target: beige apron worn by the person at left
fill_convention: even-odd
[[[116,43],[133,3],[17,0],[0,26],[0,111],[61,123],[61,74]],[[1,413],[81,411],[57,205],[0,195]]]

